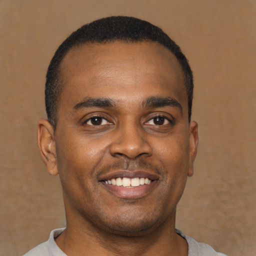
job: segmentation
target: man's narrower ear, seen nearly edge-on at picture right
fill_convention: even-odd
[[[189,124],[189,166],[187,175],[191,177],[194,172],[193,162],[196,156],[198,145],[198,124],[195,121],[191,121]]]

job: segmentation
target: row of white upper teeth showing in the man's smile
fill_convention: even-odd
[[[144,184],[150,184],[151,180],[149,178],[112,178],[111,180],[104,180],[106,184],[112,184],[116,186],[134,187]]]

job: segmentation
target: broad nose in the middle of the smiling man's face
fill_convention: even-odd
[[[115,136],[110,144],[110,154],[112,156],[126,156],[134,159],[138,156],[150,156],[152,148],[146,139],[146,131],[138,125],[119,126],[115,131]]]

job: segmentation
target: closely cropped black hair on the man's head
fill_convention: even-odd
[[[190,122],[193,98],[193,76],[191,68],[180,47],[159,27],[151,23],[127,16],[111,16],[92,21],[71,33],[57,48],[46,74],[45,107],[47,118],[54,130],[57,122],[57,105],[62,91],[59,67],[66,53],[74,46],[85,43],[106,43],[115,40],[125,42],[152,41],[168,48],[177,58],[183,74]]]

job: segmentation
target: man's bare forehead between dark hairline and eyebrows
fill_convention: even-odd
[[[65,100],[113,95],[127,99],[127,95],[166,96],[171,92],[186,102],[181,67],[170,50],[156,42],[78,45],[63,58],[59,75],[64,86],[61,98],[68,96]]]

